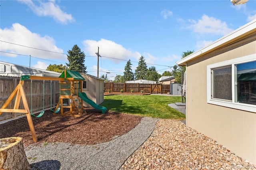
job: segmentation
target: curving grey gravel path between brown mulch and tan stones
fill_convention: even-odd
[[[26,156],[33,166],[31,170],[118,170],[147,140],[157,121],[158,119],[143,117],[128,133],[102,144],[30,145],[25,148]]]

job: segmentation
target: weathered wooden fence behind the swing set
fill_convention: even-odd
[[[20,77],[9,77],[0,76],[0,107],[4,105],[12,91],[18,85]],[[44,86],[43,86],[44,84]],[[51,88],[52,84],[52,88]],[[32,89],[32,93],[31,93]],[[43,80],[25,80],[24,81],[24,91],[26,94],[26,99],[28,101],[28,106],[32,113],[38,113],[43,109],[47,110],[51,107],[55,107],[59,101],[60,85],[59,81],[43,81]],[[31,95],[32,94],[32,95]],[[31,107],[31,97],[32,97],[32,107]],[[43,100],[44,99],[44,100]],[[52,105],[51,105],[52,99]],[[14,108],[15,99],[13,99],[6,109]],[[44,103],[43,103],[44,102]],[[44,108],[43,108],[44,107]],[[23,103],[20,102],[19,109],[24,109]],[[16,117],[25,115],[26,113],[2,113],[0,115],[0,121],[7,119],[15,119]]]

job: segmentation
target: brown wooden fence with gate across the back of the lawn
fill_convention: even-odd
[[[143,90],[145,93],[160,93],[167,94],[170,93],[170,85],[163,84],[146,84],[146,83],[104,83],[104,92],[110,90],[111,92],[140,92]]]

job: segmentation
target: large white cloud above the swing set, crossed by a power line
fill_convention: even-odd
[[[32,33],[26,27],[15,23],[12,24],[12,28],[0,29],[0,37],[4,42],[0,42],[1,51],[16,53],[21,55],[31,55],[32,57],[39,57],[42,59],[62,59],[67,60],[63,50],[56,47],[55,41],[50,36],[40,36],[39,34]],[[6,43],[9,42],[9,43]],[[12,44],[14,43],[14,44]],[[15,45],[18,44],[18,45]],[[23,46],[22,46],[23,45]],[[24,47],[26,46],[26,47]],[[29,48],[33,47],[33,48]],[[54,51],[58,53],[52,53],[48,51],[42,51],[44,49],[48,51]],[[4,53],[8,57],[16,57],[15,54]]]

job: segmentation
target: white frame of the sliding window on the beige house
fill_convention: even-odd
[[[250,62],[250,61],[256,61],[256,53],[247,55],[244,57],[239,57],[236,59],[230,59],[227,61],[222,61],[219,63],[207,65],[207,103],[256,113],[256,105],[235,102],[235,98],[236,98],[235,97],[235,90],[236,90],[236,87],[235,87],[235,65],[240,64],[240,63]],[[216,67],[223,67],[226,65],[232,65],[232,101],[212,99],[212,97],[211,97],[211,94],[212,94],[211,70]]]

